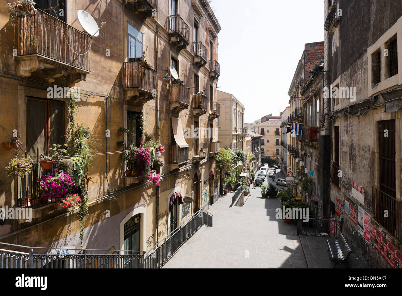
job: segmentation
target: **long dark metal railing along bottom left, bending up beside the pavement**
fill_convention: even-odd
[[[0,249],[0,268],[160,268],[201,226],[212,225],[213,216],[200,209],[148,252],[39,248],[0,242],[0,246],[14,249]]]

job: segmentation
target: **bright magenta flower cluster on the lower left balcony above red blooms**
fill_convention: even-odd
[[[55,169],[55,172],[57,172],[57,169]],[[41,176],[41,178],[37,179],[39,181],[39,197],[47,197],[51,200],[64,197],[68,190],[73,187],[72,179],[72,175],[64,173],[56,173],[55,176]]]

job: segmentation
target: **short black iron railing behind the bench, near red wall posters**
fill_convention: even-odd
[[[342,219],[309,216],[308,221],[297,221],[297,235],[324,236],[338,238],[342,233]]]

